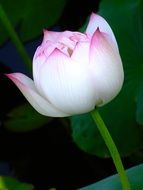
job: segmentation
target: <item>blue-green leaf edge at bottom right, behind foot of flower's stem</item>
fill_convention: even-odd
[[[131,183],[132,190],[143,189],[143,164],[127,170],[127,176]],[[118,175],[113,175],[97,183],[81,188],[81,190],[121,190],[121,183]]]

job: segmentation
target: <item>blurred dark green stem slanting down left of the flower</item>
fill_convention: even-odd
[[[27,66],[28,69],[31,70],[31,67],[32,67],[31,59],[30,59],[29,55],[27,54],[23,44],[21,43],[17,33],[15,32],[12,24],[10,23],[9,18],[7,17],[2,5],[0,5],[0,20],[3,23],[5,29],[7,30],[12,42],[15,44],[25,65]]]

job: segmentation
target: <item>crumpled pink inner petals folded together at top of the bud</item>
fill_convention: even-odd
[[[55,40],[51,41],[52,38],[55,38]],[[88,40],[89,38],[87,35],[80,32],[50,32],[44,30],[44,39],[42,44],[36,50],[34,60],[37,58],[46,60],[55,48],[59,49],[68,57],[71,57],[77,43]]]

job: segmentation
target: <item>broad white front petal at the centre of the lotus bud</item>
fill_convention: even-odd
[[[99,101],[88,68],[73,62],[58,49],[49,56],[40,75],[45,95],[66,113],[88,112]]]

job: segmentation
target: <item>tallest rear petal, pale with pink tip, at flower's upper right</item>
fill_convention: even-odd
[[[108,34],[109,37],[111,38],[111,41],[115,44],[116,48],[118,49],[115,36],[109,24],[106,22],[106,20],[103,17],[92,13],[90,16],[88,26],[86,28],[86,33],[92,36],[94,32],[97,30],[97,28],[99,28],[101,32]]]

